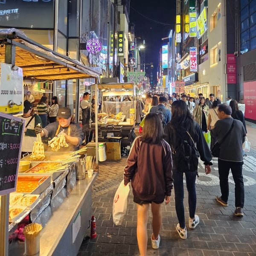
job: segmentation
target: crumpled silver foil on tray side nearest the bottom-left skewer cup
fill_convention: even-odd
[[[39,198],[41,201],[35,206],[35,208],[30,212],[30,219],[32,222],[35,222],[36,218],[44,211],[44,209],[50,204],[51,202],[51,195],[53,191],[53,183],[48,186],[44,192],[41,193]]]

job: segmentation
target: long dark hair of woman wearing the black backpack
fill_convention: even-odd
[[[183,100],[176,100],[172,103],[171,128],[175,131],[182,131],[195,134],[195,127],[192,115]]]

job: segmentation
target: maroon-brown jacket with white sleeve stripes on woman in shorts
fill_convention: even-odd
[[[124,172],[125,185],[131,180],[133,194],[143,201],[164,200],[172,191],[172,153],[169,144],[148,144],[137,137]]]

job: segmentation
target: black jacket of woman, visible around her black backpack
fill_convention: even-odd
[[[196,148],[198,149],[198,152],[200,154],[200,159],[205,163],[209,164],[212,160],[212,154],[209,150],[209,147],[206,143],[206,140],[204,138],[203,131],[201,127],[198,125],[197,122],[194,121],[195,125],[195,134],[190,134],[192,139],[194,140],[196,144]],[[177,138],[173,138],[173,132],[171,128],[171,123],[168,123],[166,127],[164,128],[164,139],[169,143],[169,145],[172,145],[173,141],[176,141]],[[177,167],[173,163],[173,171],[177,170]],[[195,170],[197,171],[197,170]]]

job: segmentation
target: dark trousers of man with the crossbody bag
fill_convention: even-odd
[[[231,162],[218,159],[218,172],[221,187],[221,199],[228,201],[228,175],[231,169],[235,182],[235,206],[244,207],[244,180],[242,175],[244,162]]]

